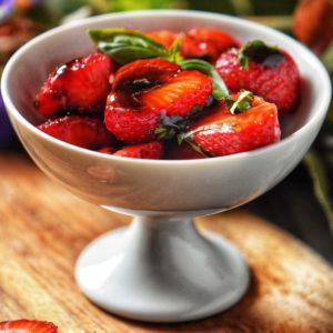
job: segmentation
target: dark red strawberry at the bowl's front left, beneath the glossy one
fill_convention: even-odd
[[[115,144],[114,137],[99,119],[67,115],[49,120],[38,129],[56,139],[82,148],[97,149]]]

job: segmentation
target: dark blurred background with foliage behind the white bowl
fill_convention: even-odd
[[[333,0],[0,0],[0,71],[20,46],[48,29],[90,16],[140,9],[204,10],[261,22],[306,44],[333,78]],[[0,157],[9,153],[26,154],[0,95]],[[332,191],[331,105],[324,127],[303,162],[245,209],[290,231],[333,262]]]

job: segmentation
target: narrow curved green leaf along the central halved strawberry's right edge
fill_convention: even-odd
[[[188,59],[179,62],[184,70],[198,70],[210,77],[213,84],[212,95],[215,100],[229,97],[228,88],[214,67],[201,59]]]

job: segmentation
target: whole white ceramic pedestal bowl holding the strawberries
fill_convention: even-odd
[[[281,142],[229,157],[152,161],[80,149],[34,127],[41,120],[32,105],[37,91],[56,65],[92,52],[93,43],[87,33],[89,28],[181,31],[198,26],[222,28],[240,41],[262,39],[285,49],[293,57],[302,77],[301,103],[296,112],[283,120]],[[51,179],[90,202],[141,216],[141,220],[137,218],[141,222],[138,220],[128,232],[132,246],[124,245],[129,243],[123,241],[119,248],[114,245],[117,250],[107,251],[103,242],[128,239],[121,233],[113,233],[95,241],[83,252],[77,266],[81,289],[99,305],[124,316],[183,321],[202,317],[233,304],[245,291],[248,271],[232,245],[222,244],[219,240],[220,245],[211,248],[220,246],[220,250],[212,253],[208,250],[208,241],[190,231],[190,223],[170,222],[174,226],[165,229],[165,220],[228,210],[259,196],[280,182],[300,162],[317,134],[329,107],[331,85],[317,58],[281,32],[222,14],[165,10],[94,17],[33,39],[8,62],[2,77],[2,94],[20,140],[38,167]],[[163,235],[160,241],[157,241],[158,234]],[[180,245],[180,240],[183,245]],[[153,242],[154,249],[162,246],[162,250],[157,250],[154,260],[148,259],[149,253],[144,252],[147,242]],[[194,243],[201,253],[195,252]],[[163,251],[165,244],[173,246]],[[221,246],[229,260],[221,261]],[[179,249],[178,258],[171,255],[172,249]],[[140,251],[144,254],[138,256]],[[127,254],[120,256],[119,253]],[[205,273],[195,265],[195,261],[204,265]],[[216,262],[224,271],[216,268]],[[179,270],[178,278],[169,276],[164,264],[173,271]],[[158,273],[154,275],[151,271]],[[141,272],[141,278],[133,272]],[[131,279],[124,278],[129,273]],[[196,274],[196,282],[192,281],[193,274]],[[222,278],[216,280],[216,276]],[[203,287],[199,280],[209,287]],[[184,283],[190,284],[185,287]],[[125,296],[129,291],[130,299]]]

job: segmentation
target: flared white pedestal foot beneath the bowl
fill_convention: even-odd
[[[249,285],[240,252],[221,236],[199,233],[191,219],[135,218],[81,253],[82,292],[102,309],[148,322],[184,322],[235,304]]]

